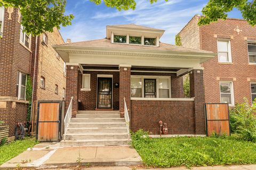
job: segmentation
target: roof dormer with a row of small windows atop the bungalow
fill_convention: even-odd
[[[107,26],[107,38],[111,43],[159,47],[164,30],[135,24]]]

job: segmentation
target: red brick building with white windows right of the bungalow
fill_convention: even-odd
[[[181,45],[218,53],[202,64],[206,103],[234,106],[246,97],[256,97],[256,27],[245,20],[225,21],[198,26],[195,15],[178,33]]]

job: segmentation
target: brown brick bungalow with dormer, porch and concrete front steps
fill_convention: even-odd
[[[104,39],[53,46],[67,63],[66,110],[73,97],[64,145],[125,143],[116,138],[122,129],[114,123],[126,111],[133,131],[159,134],[162,120],[169,134],[205,134],[201,64],[216,54],[161,43],[164,30],[135,24],[107,26],[106,33]],[[191,98],[183,97],[187,73]],[[104,127],[113,128],[105,134]]]

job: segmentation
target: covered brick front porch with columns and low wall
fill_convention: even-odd
[[[190,75],[190,98],[183,94],[183,75]],[[196,86],[194,86],[196,84]],[[132,65],[67,65],[67,96],[78,111],[119,111],[124,98],[132,131],[159,134],[159,121],[169,134],[205,134],[203,70]],[[196,96],[195,96],[196,94]],[[66,109],[67,109],[66,105]]]

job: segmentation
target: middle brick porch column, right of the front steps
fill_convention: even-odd
[[[119,112],[124,117],[124,97],[129,115],[131,115],[131,65],[119,65]],[[130,116],[131,117],[131,116]]]

